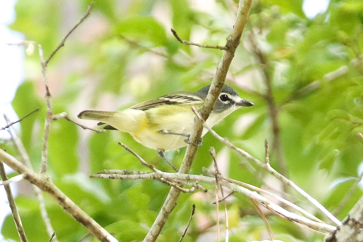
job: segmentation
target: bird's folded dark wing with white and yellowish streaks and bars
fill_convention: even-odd
[[[203,99],[197,97],[194,93],[168,94],[160,98],[155,98],[142,103],[135,104],[130,108],[144,111],[161,105],[173,105],[173,104],[200,105],[203,104]]]

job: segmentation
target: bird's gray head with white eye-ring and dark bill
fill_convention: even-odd
[[[196,94],[200,98],[205,100],[208,94],[209,87],[210,85],[199,89],[198,91],[196,91]],[[252,102],[243,100],[240,95],[238,95],[237,91],[234,90],[232,87],[224,85],[216,101],[216,104],[214,105],[213,111],[220,113],[231,107],[238,108],[242,106],[249,107],[253,105],[254,104]]]

